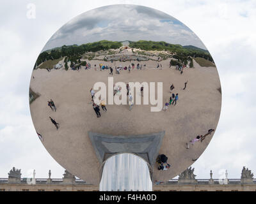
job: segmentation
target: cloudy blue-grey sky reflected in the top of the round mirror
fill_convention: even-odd
[[[44,50],[99,40],[166,41],[205,48],[186,25],[162,11],[129,4],[104,6],[85,12],[63,25]]]

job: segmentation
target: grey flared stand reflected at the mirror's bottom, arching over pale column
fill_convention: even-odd
[[[89,132],[88,135],[95,150],[95,154],[100,164],[102,164],[101,173],[104,162],[109,157],[115,154],[131,153],[140,156],[147,162],[152,179],[153,165],[156,163],[156,158],[159,154],[164,131],[130,136],[113,136],[92,132]]]

